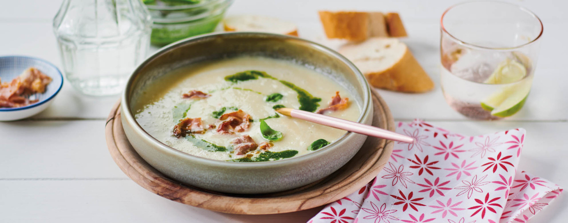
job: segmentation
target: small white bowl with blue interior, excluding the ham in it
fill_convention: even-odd
[[[20,107],[20,108],[0,108],[0,121],[14,121],[18,119],[28,118],[47,107],[53,101],[53,98],[59,93],[63,86],[63,76],[55,65],[48,61],[28,56],[1,56],[0,57],[0,79],[3,82],[12,81],[24,70],[35,67],[45,75],[51,77],[53,81],[47,85],[43,94],[31,94],[27,96],[32,99],[39,99],[38,102]]]

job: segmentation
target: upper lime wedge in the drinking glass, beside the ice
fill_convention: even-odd
[[[527,68],[515,60],[507,59],[499,64],[485,84],[509,84],[522,80],[527,76]]]

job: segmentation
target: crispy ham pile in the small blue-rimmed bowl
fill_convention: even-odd
[[[18,108],[34,104],[38,100],[23,97],[26,94],[44,93],[51,77],[36,68],[28,68],[11,82],[0,81],[0,108]]]

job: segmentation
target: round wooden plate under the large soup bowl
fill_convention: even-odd
[[[373,91],[373,125],[394,131],[394,120],[385,101]],[[377,176],[389,160],[394,142],[367,138],[361,150],[345,166],[310,185],[291,191],[259,195],[235,195],[208,191],[178,183],[144,161],[128,142],[120,122],[120,102],[108,115],[105,131],[108,151],[137,184],[167,199],[194,207],[234,214],[275,214],[319,207],[357,191]]]

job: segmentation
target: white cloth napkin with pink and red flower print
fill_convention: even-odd
[[[309,223],[527,222],[562,192],[517,171],[524,129],[466,137],[415,120],[396,132],[415,142],[396,143],[371,183]]]

